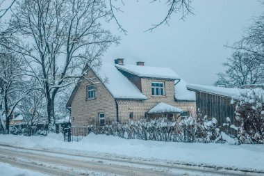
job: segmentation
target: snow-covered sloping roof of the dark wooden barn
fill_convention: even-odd
[[[211,93],[215,95],[222,95],[225,97],[234,97],[240,95],[242,89],[240,88],[223,88],[216,86],[203,86],[198,84],[187,84],[189,90],[198,90],[204,93]]]

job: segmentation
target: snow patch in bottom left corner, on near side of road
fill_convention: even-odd
[[[36,173],[31,170],[15,168],[8,163],[0,162],[0,176],[48,176],[42,173]]]

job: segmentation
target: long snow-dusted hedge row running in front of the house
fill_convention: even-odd
[[[217,142],[213,139],[220,136],[216,127],[215,119],[203,118],[197,123],[196,118],[188,117],[180,122],[167,118],[141,119],[139,121],[128,121],[124,123],[113,122],[103,127],[89,126],[88,131],[94,134],[106,134],[119,136],[127,139],[141,139],[153,141],[174,141],[174,142]],[[204,138],[198,138],[198,132]]]

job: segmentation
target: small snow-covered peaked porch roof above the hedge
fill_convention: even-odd
[[[163,102],[154,106],[148,113],[181,113],[183,110]]]

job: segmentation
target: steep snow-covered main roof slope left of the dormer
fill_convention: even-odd
[[[147,99],[140,90],[117,70],[113,63],[102,63],[94,70],[109,92],[117,99]],[[104,80],[107,81],[104,81]]]

